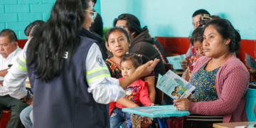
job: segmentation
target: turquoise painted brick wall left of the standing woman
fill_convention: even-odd
[[[47,21],[55,0],[0,0],[0,30],[13,30],[18,39],[26,39],[24,30],[36,20]]]

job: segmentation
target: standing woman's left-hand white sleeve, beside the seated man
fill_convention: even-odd
[[[27,41],[23,50],[21,50],[21,53],[18,55],[16,62],[11,66],[9,72],[4,77],[4,89],[11,97],[16,99],[21,99],[27,95],[25,81],[26,78],[28,78],[26,70],[26,49],[30,41],[31,39]]]

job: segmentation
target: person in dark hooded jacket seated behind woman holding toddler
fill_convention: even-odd
[[[161,55],[156,48],[154,48],[154,40],[149,35],[149,30],[146,26],[141,28],[139,19],[132,14],[122,14],[118,18],[114,19],[114,26],[124,28],[131,40],[130,42],[130,53],[137,53],[141,55],[146,55],[149,60],[154,60],[154,58],[159,58],[160,62],[156,65],[154,69],[155,76],[159,73],[164,75],[164,62],[161,59]]]

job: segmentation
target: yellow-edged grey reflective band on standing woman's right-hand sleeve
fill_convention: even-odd
[[[103,77],[110,77],[110,71],[108,68],[96,68],[86,73],[87,82],[92,82]]]

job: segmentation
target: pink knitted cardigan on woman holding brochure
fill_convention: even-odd
[[[211,58],[202,57],[196,61],[196,73]],[[245,65],[231,56],[218,70],[215,87],[218,100],[210,102],[190,102],[188,111],[196,114],[224,115],[223,123],[247,122],[245,113],[245,92],[249,86],[249,72]]]

